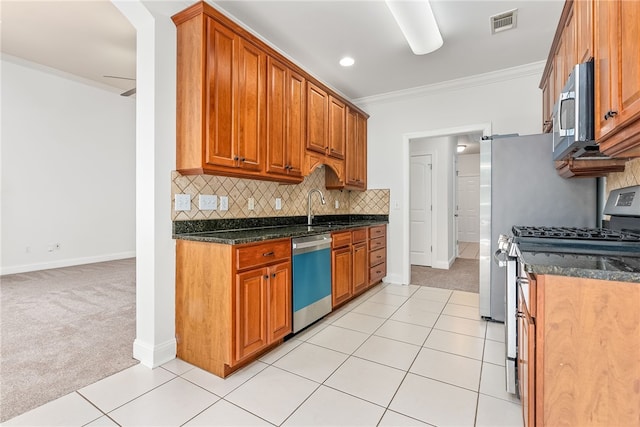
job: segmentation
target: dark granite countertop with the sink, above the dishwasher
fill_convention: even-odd
[[[233,220],[176,221],[173,238],[237,245],[288,237],[303,237],[371,225],[387,224],[388,215],[316,216],[311,226],[306,217],[247,218]]]

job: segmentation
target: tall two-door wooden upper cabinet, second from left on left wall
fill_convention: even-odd
[[[306,79],[282,62],[267,60],[266,172],[302,181]]]

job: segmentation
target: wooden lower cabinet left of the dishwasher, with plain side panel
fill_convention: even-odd
[[[291,240],[176,241],[178,357],[220,377],[291,333]]]

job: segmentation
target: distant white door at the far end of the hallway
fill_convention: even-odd
[[[480,241],[480,177],[458,176],[458,240]]]

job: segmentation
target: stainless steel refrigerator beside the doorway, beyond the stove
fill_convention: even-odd
[[[595,178],[561,178],[551,134],[493,136],[480,143],[480,315],[505,318],[506,269],[493,262],[513,225],[596,227]]]

